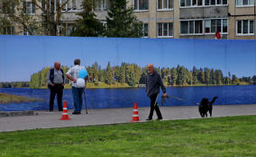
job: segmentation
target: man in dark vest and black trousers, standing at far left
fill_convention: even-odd
[[[53,110],[55,95],[57,94],[58,108],[62,111],[62,95],[64,89],[64,73],[60,68],[60,63],[55,62],[54,68],[50,69],[47,77],[48,87],[50,88],[50,111]]]

